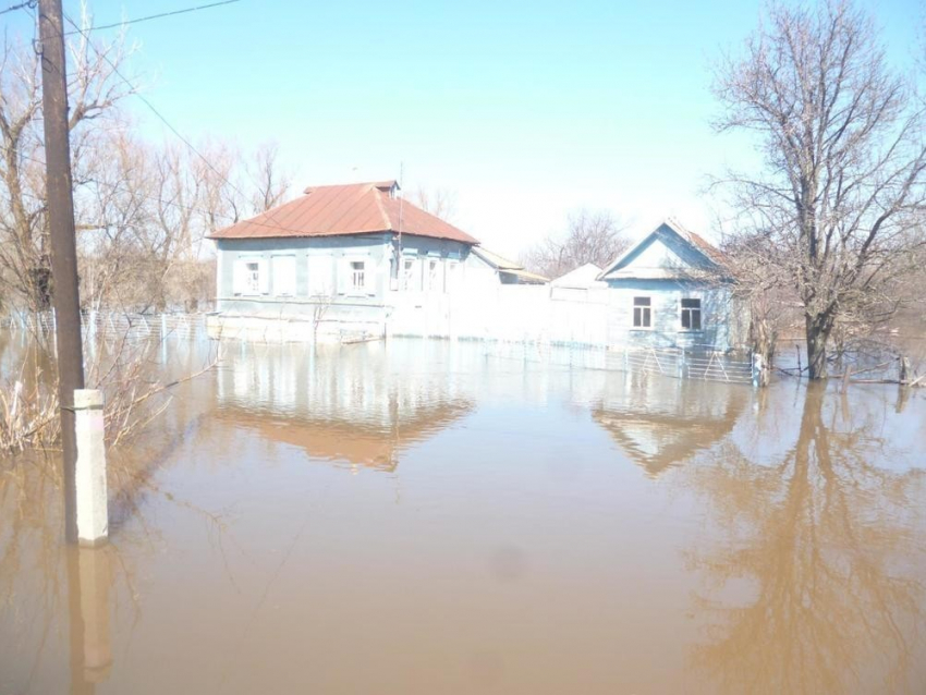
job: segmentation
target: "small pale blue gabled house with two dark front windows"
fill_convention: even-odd
[[[740,342],[723,254],[675,220],[644,235],[598,280],[609,288],[613,344],[726,352]]]

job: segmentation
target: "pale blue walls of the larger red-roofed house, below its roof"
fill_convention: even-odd
[[[388,320],[403,320],[406,307],[415,310],[405,320],[421,321],[422,312],[441,315],[449,294],[478,296],[488,285],[498,284],[498,275],[470,252],[468,244],[405,234],[399,267],[393,270],[398,246],[391,233],[217,240],[216,308],[228,316],[284,319],[289,325],[276,332],[289,331],[298,339],[326,327],[337,332],[382,333]],[[282,286],[287,292],[293,289],[292,295],[280,293],[287,283],[275,275],[275,258],[279,257],[294,259],[294,286]],[[241,292],[235,272],[240,271],[240,261],[252,260],[260,265],[261,286]],[[352,286],[349,264],[353,260],[365,263],[368,277],[362,291]],[[411,263],[407,272],[405,261]]]

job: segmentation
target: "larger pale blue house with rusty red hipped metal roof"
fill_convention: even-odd
[[[546,282],[404,200],[395,181],[309,186],[210,239],[217,308],[226,315],[318,318],[324,312],[326,321],[376,332],[400,295],[424,305],[499,284]]]

